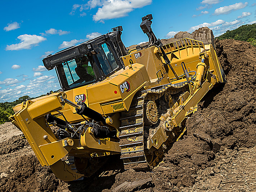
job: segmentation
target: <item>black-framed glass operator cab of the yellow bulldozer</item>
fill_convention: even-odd
[[[69,47],[47,56],[43,63],[48,70],[55,68],[64,91],[102,81],[124,67],[118,35],[120,39],[120,30],[115,30]]]

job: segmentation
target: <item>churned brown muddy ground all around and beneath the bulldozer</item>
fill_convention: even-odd
[[[11,123],[0,125],[0,191],[256,191],[256,47],[216,41],[227,83],[210,90],[187,119],[187,134],[153,170],[125,170],[112,156],[96,176],[63,182],[42,167]],[[206,141],[219,143],[216,153]],[[208,147],[209,148],[209,147]]]

